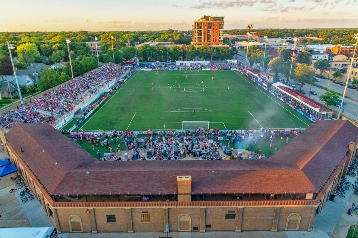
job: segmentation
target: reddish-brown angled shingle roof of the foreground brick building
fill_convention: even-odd
[[[49,124],[6,134],[51,195],[176,194],[177,175],[192,176],[193,194],[319,192],[357,137],[349,121],[318,121],[269,160],[103,162]]]

